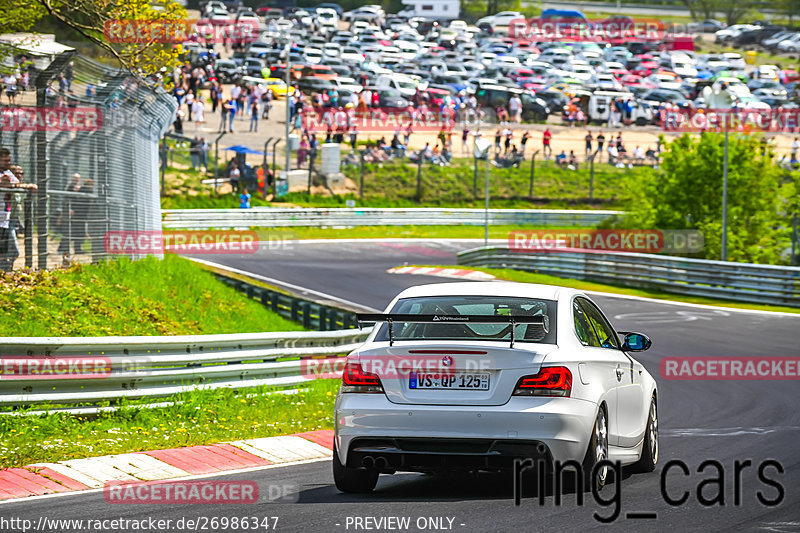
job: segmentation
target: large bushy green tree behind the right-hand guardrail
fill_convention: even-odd
[[[624,225],[638,228],[697,229],[702,256],[719,259],[722,242],[724,135],[684,134],[669,143],[661,168],[649,178],[625,184],[631,195]],[[728,147],[728,258],[778,263],[780,169],[758,135],[731,134]],[[782,246],[783,244],[783,246]]]

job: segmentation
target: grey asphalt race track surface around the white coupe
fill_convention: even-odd
[[[454,263],[456,251],[474,245],[439,241],[309,243],[255,255],[203,256],[203,259],[300,285],[361,306],[383,309],[390,298],[405,287],[447,281],[429,276],[387,274],[387,268],[404,263]],[[557,505],[554,497],[548,494],[542,505],[536,495],[535,480],[526,479],[525,497],[517,507],[512,498],[510,476],[488,475],[382,476],[374,494],[343,495],[333,486],[330,462],[318,461],[218,478],[256,481],[263,501],[253,505],[112,505],[104,501],[102,492],[93,492],[0,505],[0,517],[27,518],[35,522],[40,516],[61,519],[152,517],[173,521],[181,517],[277,516],[275,531],[326,533],[516,533],[590,529],[800,531],[800,391],[797,381],[677,381],[659,376],[660,359],[670,355],[796,356],[800,351],[797,340],[800,317],[606,296],[595,299],[615,327],[641,331],[653,339],[653,348],[639,354],[638,359],[658,379],[660,394],[659,467],[651,474],[624,472],[620,482],[607,486],[599,494],[605,502],[599,502],[588,493],[579,505],[575,494],[566,494]],[[688,474],[673,468],[662,475],[664,465],[673,459],[682,461]],[[783,473],[766,466],[764,479],[759,479],[759,465],[770,459],[780,463]],[[698,472],[698,467],[706,460],[718,461],[721,471],[709,465]],[[750,461],[751,466],[744,467],[740,476],[736,476],[735,461]],[[703,483],[720,476],[724,476],[721,484]],[[737,477],[740,477],[738,481]],[[686,501],[675,506],[668,504],[662,495],[662,484],[667,497],[677,500],[686,493]],[[281,487],[281,493],[287,495],[268,499],[270,494],[276,493],[276,487]],[[717,501],[705,506],[699,501],[713,500],[720,493],[724,505]],[[759,501],[759,494],[766,503]],[[777,500],[780,501],[775,504]],[[598,520],[615,514],[610,524]],[[403,529],[381,528],[375,522],[358,522],[362,527],[356,527],[358,517],[409,517],[410,522],[409,527]]]

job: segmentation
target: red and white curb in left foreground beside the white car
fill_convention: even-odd
[[[331,457],[333,431],[123,453],[0,470],[0,501]]]

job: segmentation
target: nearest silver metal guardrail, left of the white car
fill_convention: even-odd
[[[369,332],[0,338],[0,406],[97,404],[197,387],[293,386],[314,379],[320,359],[335,362],[330,358],[354,350]],[[76,360],[91,361],[95,372],[57,374]],[[20,367],[31,371],[8,372]]]

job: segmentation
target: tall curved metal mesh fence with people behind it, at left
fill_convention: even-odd
[[[0,122],[0,146],[22,167],[22,181],[38,186],[35,246],[15,266],[97,261],[109,255],[109,231],[159,230],[158,140],[172,122],[174,98],[74,52],[35,74],[15,108],[0,110],[58,117],[36,127]],[[79,124],[87,110],[97,120]]]

